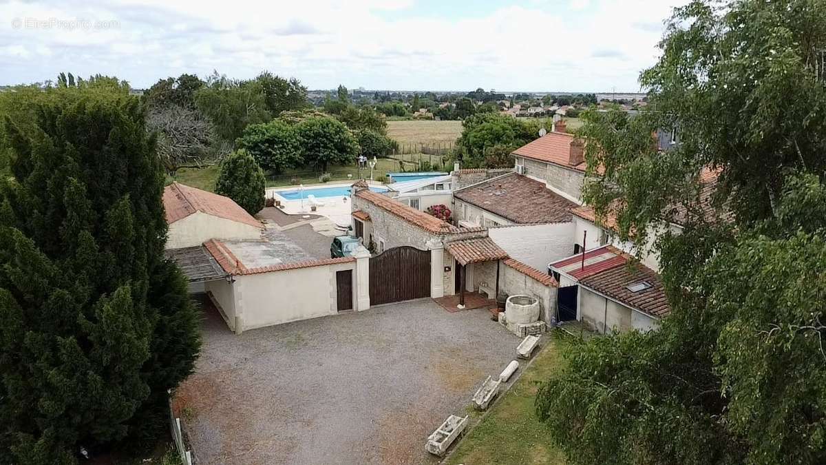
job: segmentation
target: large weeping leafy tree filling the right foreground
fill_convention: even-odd
[[[584,114],[584,197],[655,244],[672,314],[578,344],[539,391],[573,463],[826,461],[824,27],[823,2],[691,2],[650,110]]]

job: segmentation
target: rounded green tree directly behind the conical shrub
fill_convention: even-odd
[[[253,156],[264,170],[275,174],[296,168],[304,162],[298,133],[281,119],[246,127],[238,145]]]

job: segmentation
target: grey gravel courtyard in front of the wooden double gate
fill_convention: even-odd
[[[415,300],[236,336],[205,309],[176,401],[197,462],[438,462],[428,434],[515,356],[489,315]]]

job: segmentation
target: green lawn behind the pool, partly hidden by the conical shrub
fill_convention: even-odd
[[[427,156],[425,156],[425,160],[426,157]],[[406,165],[406,170],[412,170],[410,164]],[[353,180],[355,182],[358,180],[358,166],[356,165],[328,166],[327,171],[333,175],[333,179],[330,180],[330,182],[342,180]],[[376,169],[373,170],[373,179],[382,180],[382,176],[385,174],[394,173],[396,171],[399,171],[398,161],[389,158],[380,158],[377,161]],[[353,175],[353,177],[348,178],[347,175]],[[369,178],[370,169],[368,168],[365,170],[363,175]],[[321,182],[318,179],[319,176],[320,173],[313,173],[306,169],[287,170],[286,173],[273,177],[273,179],[270,179],[268,176],[267,187],[291,185],[293,178],[297,178],[299,180],[298,182],[301,184],[318,184]],[[212,192],[215,190],[215,180],[217,177],[217,165],[207,166],[205,168],[181,168],[178,170],[178,173],[175,174],[174,178],[167,176],[166,183],[171,184],[172,181],[178,181],[184,185],[191,185],[192,187],[197,187],[198,189],[204,189]]]

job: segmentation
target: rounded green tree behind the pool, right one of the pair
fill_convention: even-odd
[[[311,117],[296,125],[304,161],[326,171],[327,165],[355,161],[358,142],[353,133],[335,117]]]

